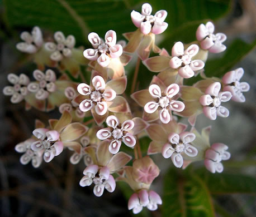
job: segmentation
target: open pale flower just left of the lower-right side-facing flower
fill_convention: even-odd
[[[164,158],[171,157],[174,166],[180,168],[183,165],[182,154],[186,154],[189,157],[195,157],[197,155],[196,147],[190,143],[196,139],[195,134],[192,132],[182,132],[181,134],[171,133],[168,136],[170,143],[165,144],[162,147],[162,155]]]

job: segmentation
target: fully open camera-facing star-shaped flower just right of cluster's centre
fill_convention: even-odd
[[[179,92],[179,86],[172,83],[162,92],[158,85],[150,85],[149,93],[155,98],[155,101],[150,101],[144,106],[145,112],[152,114],[159,110],[159,117],[163,124],[168,124],[172,120],[171,111],[181,112],[185,105],[181,101],[172,100]]]

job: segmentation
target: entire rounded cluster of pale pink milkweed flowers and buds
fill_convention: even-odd
[[[23,42],[16,47],[31,55],[37,68],[32,76],[10,73],[7,80],[11,85],[3,89],[12,103],[25,101],[26,110],[34,107],[48,112],[58,107],[61,115],[50,119],[48,125],[36,120],[31,137],[15,146],[22,153],[21,164],[31,161],[39,167],[65,150],[72,151],[72,164],[84,162],[80,186],[93,185],[94,195],[101,196],[104,191],[115,191],[117,181],[124,181],[134,191],[127,205],[134,214],[143,208],[156,210],[162,204],[151,186],[160,174],[152,155],[162,155],[163,161],[177,168],[203,161],[212,173],[224,170],[221,162],[230,158],[228,146],[220,142],[211,145],[211,127],[200,134],[196,119],[202,113],[212,121],[229,116],[223,104],[230,99],[244,102],[244,92],[249,91],[248,83],[240,81],[243,68],[222,78],[202,76],[192,86],[184,85],[184,80],[205,70],[208,52],[226,49],[222,44],[226,36],[214,34],[211,22],[200,24],[195,32],[197,41],[170,43],[170,56],[165,48],[155,45],[156,35],[168,27],[164,22],[167,11],[151,12],[148,3],[143,4],[141,13],[131,12],[138,29],[124,33],[127,43],[117,42],[113,30],[106,32],[104,40],[95,32],[89,33],[93,48],[87,49],[75,48],[75,37],[65,37],[60,31],[51,40],[44,39],[39,27],[21,33]],[[125,66],[133,53],[156,74],[140,89],[136,68],[130,91]],[[87,67],[91,78],[84,76],[80,66]],[[190,129],[177,116],[187,118]],[[144,136],[151,139],[150,144],[144,144],[146,153],[140,149]]]

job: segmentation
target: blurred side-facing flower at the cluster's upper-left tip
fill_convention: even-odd
[[[22,32],[20,37],[24,42],[17,43],[16,48],[24,53],[36,53],[44,43],[41,29],[37,26],[32,29],[31,33]]]

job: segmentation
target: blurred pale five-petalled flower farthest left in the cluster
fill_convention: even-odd
[[[29,93],[27,85],[29,85],[30,80],[25,74],[17,76],[10,73],[7,76],[7,80],[12,83],[13,86],[6,86],[3,88],[3,94],[6,96],[12,96],[11,102],[18,103],[23,100],[23,98]]]

